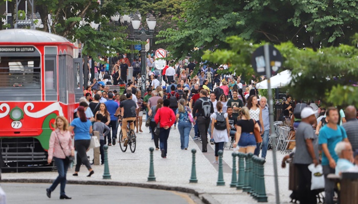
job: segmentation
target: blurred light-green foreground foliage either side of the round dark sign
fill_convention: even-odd
[[[255,74],[251,66],[254,50],[263,43],[253,43],[237,36],[228,37],[230,49],[207,50],[204,60],[229,62],[231,71]],[[325,105],[358,106],[358,50],[354,46],[339,45],[300,49],[292,42],[275,45],[283,57],[281,70],[292,71],[289,92],[297,99],[321,99]],[[248,79],[248,78],[247,78]]]

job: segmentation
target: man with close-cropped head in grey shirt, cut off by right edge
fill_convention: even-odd
[[[348,106],[345,110],[346,121],[343,123],[343,128],[346,130],[347,138],[352,145],[353,151],[358,149],[358,120],[357,110],[354,106]]]

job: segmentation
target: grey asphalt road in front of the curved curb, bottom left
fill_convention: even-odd
[[[50,184],[2,184],[6,191],[7,203],[11,204],[45,204],[45,203],[148,203],[166,204],[194,204],[202,203],[197,197],[186,193],[173,191],[153,190],[133,187],[114,187],[97,185],[66,185],[66,194],[72,197],[70,200],[60,200],[59,186],[51,193],[51,198],[46,196],[44,189]],[[21,192],[21,194],[19,194]],[[19,196],[21,195],[21,196]]]

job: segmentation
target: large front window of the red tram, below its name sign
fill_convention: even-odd
[[[2,57],[0,89],[40,89],[40,57]]]

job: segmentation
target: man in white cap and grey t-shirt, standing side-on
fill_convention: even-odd
[[[294,164],[299,173],[298,200],[300,203],[317,203],[316,195],[310,190],[311,172],[308,165],[319,164],[318,137],[312,127],[315,124],[317,111],[306,107],[301,111],[302,121],[296,130],[296,153]]]

